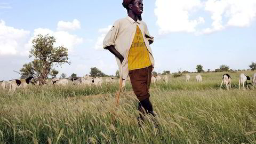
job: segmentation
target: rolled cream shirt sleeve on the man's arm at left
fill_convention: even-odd
[[[115,46],[116,37],[118,34],[119,25],[118,21],[114,23],[111,29],[108,31],[106,37],[103,40],[103,49],[106,49],[108,46]]]

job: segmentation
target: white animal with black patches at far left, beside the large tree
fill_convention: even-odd
[[[30,84],[31,79],[34,78],[32,76],[27,79],[14,79],[9,82],[9,91],[14,92],[17,88],[26,88],[28,84]]]

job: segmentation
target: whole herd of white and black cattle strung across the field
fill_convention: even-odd
[[[190,75],[186,74],[186,82],[189,82],[190,79]],[[31,81],[33,79],[33,77],[28,77],[27,79],[13,79],[11,81],[3,81],[1,86],[3,87],[3,89],[9,89],[9,92],[14,92],[17,88],[25,88],[27,87],[29,84],[34,84],[34,85],[39,85],[39,82],[33,82]],[[239,89],[240,89],[240,85],[243,85],[243,89],[244,85],[247,86],[248,89],[248,85],[247,85],[247,81],[250,81],[250,77],[246,76],[245,74],[240,74],[239,76]],[[107,85],[111,85],[114,84],[116,82],[116,79],[114,78],[106,78],[106,84]],[[130,81],[130,79],[123,79],[122,82],[122,90],[125,91],[126,90],[126,81]],[[156,84],[157,82],[165,82],[168,83],[168,77],[167,75],[161,77],[161,76],[152,76],[151,77],[151,83],[152,84]],[[200,74],[196,75],[196,81],[197,82],[202,82],[202,76]],[[88,85],[88,86],[92,86],[95,85],[97,87],[101,87],[103,84],[103,79],[102,77],[91,77],[89,75],[85,75],[83,77],[76,77],[76,78],[53,78],[53,79],[46,79],[45,84],[44,85],[61,85],[61,86],[67,86],[67,85]],[[222,84],[225,84],[227,87],[227,90],[229,88],[231,88],[231,76],[229,74],[224,74],[222,76],[222,82],[220,85],[220,88],[222,87]],[[251,84],[251,83],[249,83]],[[252,85],[256,85],[256,73],[253,74],[252,76]]]

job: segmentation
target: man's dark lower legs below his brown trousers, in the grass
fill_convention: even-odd
[[[152,104],[149,100],[149,98],[145,99],[145,100],[142,100],[141,102],[139,102],[139,106],[138,106],[138,110],[143,114],[145,115],[145,111],[142,109],[142,107],[145,109],[146,111],[146,114],[148,115],[152,115],[155,117],[155,114],[153,113],[153,107],[152,107]],[[141,120],[143,121],[144,120],[144,117],[140,114],[140,118]]]

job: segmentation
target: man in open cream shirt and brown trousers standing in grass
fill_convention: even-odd
[[[103,41],[103,48],[115,55],[120,76],[126,79],[130,75],[132,89],[140,101],[139,111],[145,114],[145,109],[147,114],[155,116],[149,100],[154,68],[149,45],[154,42],[154,37],[149,35],[146,23],[141,20],[143,0],[123,0],[123,6],[128,16],[114,23]],[[143,120],[142,115],[140,118]]]

